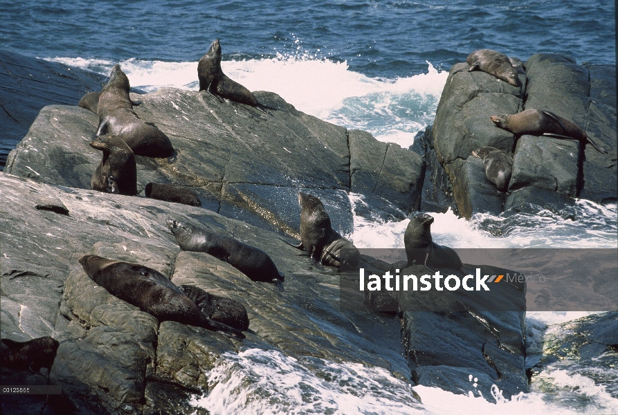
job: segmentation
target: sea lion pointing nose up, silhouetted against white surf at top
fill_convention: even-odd
[[[206,55],[199,59],[197,63],[197,77],[199,79],[200,91],[207,91],[212,96],[217,94],[230,101],[251,105],[251,107],[255,107],[264,113],[266,112],[260,102],[257,102],[251,91],[238,82],[230,80],[221,71],[221,45],[219,44],[219,39],[215,39],[215,42],[210,44]]]

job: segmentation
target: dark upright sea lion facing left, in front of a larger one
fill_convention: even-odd
[[[90,147],[103,151],[90,185],[93,190],[107,193],[137,194],[137,167],[135,156],[127,143],[118,136],[100,136]]]

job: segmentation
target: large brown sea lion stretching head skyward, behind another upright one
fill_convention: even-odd
[[[136,156],[173,156],[174,148],[170,138],[154,125],[140,120],[133,111],[129,88],[127,75],[122,72],[120,65],[114,66],[99,97],[99,127],[96,136],[122,136],[122,140],[125,140]]]

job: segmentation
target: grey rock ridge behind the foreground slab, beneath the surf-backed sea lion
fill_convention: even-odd
[[[363,197],[358,212],[403,219],[417,210],[424,163],[417,154],[296,111],[274,93],[257,92],[265,114],[206,92],[161,89],[131,94],[134,110],[172,140],[176,160],[136,156],[138,192],[147,183],[191,187],[203,208],[297,237],[297,194],[313,189],[338,232],[352,232],[347,194]],[[66,187],[90,188],[100,153],[88,145],[96,114],[72,106],[42,109],[13,150],[6,172]]]

